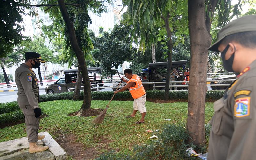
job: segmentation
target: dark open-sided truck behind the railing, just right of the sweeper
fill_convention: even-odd
[[[180,77],[177,78],[177,81],[185,81],[184,77],[184,69],[186,67],[187,60],[180,60],[180,61],[172,61],[172,69],[176,68],[179,70]],[[162,78],[158,78],[154,76],[153,71],[157,70],[159,75]],[[167,62],[157,62],[157,63],[149,63],[147,69],[143,69],[143,72],[138,73],[137,75],[140,77],[141,82],[165,82],[166,72],[167,72]],[[144,76],[145,75],[145,79]],[[177,83],[177,85],[185,85],[186,83]],[[165,85],[165,83],[156,83],[155,86]],[[113,91],[116,90],[116,84],[114,85]],[[153,90],[153,84],[143,84],[145,90]],[[165,87],[155,87],[157,90],[164,90]],[[187,89],[187,87],[177,87],[178,90]]]

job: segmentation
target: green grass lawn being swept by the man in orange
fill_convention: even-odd
[[[105,108],[108,101],[94,100],[91,108]],[[140,119],[138,112],[135,118],[125,118],[132,113],[132,101],[112,101],[102,124],[92,124],[92,117],[68,116],[80,109],[82,101],[57,100],[40,103],[41,109],[48,117],[40,120],[39,132],[47,131],[54,139],[64,135],[74,135],[76,142],[85,148],[97,147],[98,153],[108,150],[120,150],[130,153],[133,145],[147,144],[151,133],[145,130],[161,129],[164,124],[182,124],[187,120],[185,102],[152,103],[146,102],[147,115],[144,124],[135,124]],[[213,103],[206,103],[205,122],[213,116]],[[171,119],[171,121],[166,121]],[[0,129],[0,142],[25,137],[25,124]],[[104,140],[104,141],[103,141]],[[102,142],[108,142],[103,143]]]

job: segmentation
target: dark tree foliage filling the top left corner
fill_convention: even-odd
[[[12,52],[14,45],[19,44],[22,38],[25,38],[21,34],[24,27],[20,25],[25,8],[19,7],[24,2],[26,0],[1,1],[0,57],[5,57]]]

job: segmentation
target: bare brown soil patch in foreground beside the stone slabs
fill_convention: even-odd
[[[110,140],[102,138],[102,141],[97,145],[97,147],[84,147],[84,144],[76,142],[76,136],[69,134],[56,138],[58,144],[67,152],[69,156],[73,159],[95,159],[97,155],[100,154],[98,150],[107,148]]]

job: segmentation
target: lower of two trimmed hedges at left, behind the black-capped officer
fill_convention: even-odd
[[[21,110],[16,110],[14,112],[3,113],[0,114],[0,124],[1,123],[9,123],[9,122],[17,122],[24,120],[24,114]]]

